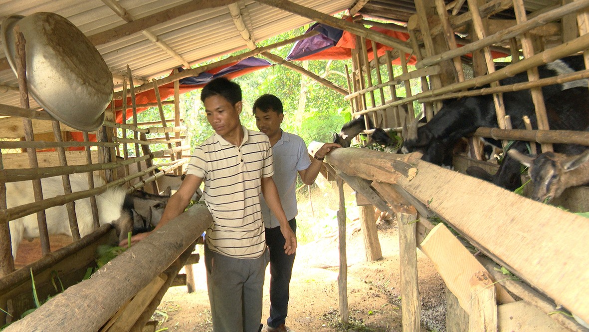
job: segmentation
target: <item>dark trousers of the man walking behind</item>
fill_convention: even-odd
[[[289,225],[296,234],[296,219],[291,219]],[[266,228],[266,244],[270,249],[269,327],[278,327],[280,324],[284,324],[289,311],[289,284],[295,254],[284,253],[284,242],[280,226]]]

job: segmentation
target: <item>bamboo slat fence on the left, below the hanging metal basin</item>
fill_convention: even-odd
[[[129,73],[130,74],[130,73]],[[21,84],[26,87],[26,84]],[[156,83],[157,86],[157,83]],[[21,89],[22,89],[21,87]],[[126,89],[125,89],[126,91]],[[131,99],[134,102],[134,93],[131,90]],[[166,119],[161,120],[160,126],[150,124],[149,127],[138,126],[136,105],[133,107],[133,123],[114,123],[114,108],[105,111],[104,125],[97,130],[98,142],[92,142],[87,132],[83,133],[84,141],[76,142],[68,140],[67,132],[75,131],[68,126],[61,126],[51,115],[45,111],[35,111],[27,108],[27,97],[23,97],[23,107],[11,107],[0,105],[0,114],[5,116],[0,121],[2,124],[11,125],[11,130],[2,130],[0,136],[0,277],[14,271],[14,261],[11,254],[11,241],[9,239],[8,223],[14,219],[40,213],[42,216],[45,209],[51,206],[66,205],[68,219],[74,240],[80,239],[77,218],[74,208],[74,200],[90,198],[92,215],[95,226],[98,226],[98,209],[96,207],[95,195],[100,195],[111,186],[125,186],[128,190],[145,188],[149,192],[157,192],[156,180],[165,172],[181,173],[181,167],[186,160],[177,159],[181,153],[189,150],[190,147],[183,144],[180,133],[184,127],[180,125],[179,109],[176,107],[174,126],[169,126]],[[156,106],[163,107],[163,104],[170,104],[169,101],[158,100]],[[173,103],[173,101],[171,102]],[[163,110],[160,111],[163,115]],[[24,123],[21,126],[12,126],[18,120]],[[34,123],[32,121],[35,121]],[[45,125],[45,123],[48,124]],[[47,129],[46,129],[47,128]],[[53,137],[44,134],[51,128]],[[40,133],[36,133],[38,129]],[[25,134],[26,133],[26,134]],[[174,137],[170,137],[174,133]],[[92,133],[94,134],[94,133]],[[157,136],[154,138],[147,138]],[[165,134],[165,137],[160,137]],[[26,136],[26,140],[16,141],[16,137]],[[130,137],[130,138],[127,138]],[[153,144],[166,144],[167,149],[150,149]],[[157,147],[157,146],[156,146]],[[66,151],[66,150],[71,151]],[[72,150],[74,149],[74,150]],[[78,152],[75,150],[83,150]],[[28,151],[29,159],[34,162],[25,162]],[[39,151],[39,150],[42,150]],[[54,151],[54,152],[52,152]],[[153,159],[168,157],[169,162],[154,163]],[[122,172],[121,172],[122,169]],[[117,171],[118,170],[118,171]],[[88,175],[88,190],[72,193],[69,175],[85,173]],[[65,195],[57,197],[37,196],[33,203],[24,205],[9,204],[6,208],[5,184],[16,181],[37,181],[36,189],[41,192],[40,179],[52,176],[61,176],[64,185]],[[105,184],[94,183],[94,177],[100,176]],[[96,186],[96,188],[94,188]],[[163,189],[163,188],[162,188]],[[8,198],[10,200],[11,198]],[[39,217],[42,218],[42,217]],[[44,224],[39,219],[39,225]],[[43,229],[43,227],[41,227]],[[45,228],[46,229],[46,228]],[[49,252],[49,238],[47,231],[41,236],[41,243],[44,254]],[[42,232],[43,234],[43,232]],[[5,308],[0,304],[0,307]]]

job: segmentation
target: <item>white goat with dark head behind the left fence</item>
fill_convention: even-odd
[[[85,175],[70,175],[70,183],[72,192],[88,189],[88,179]],[[97,185],[104,184],[98,177],[95,177],[95,183],[97,183]],[[64,195],[60,176],[41,179],[41,185],[44,198]],[[117,236],[122,240],[127,238],[127,233],[133,229],[134,219],[148,219],[151,223],[157,223],[159,221],[158,217],[161,216],[167,199],[165,197],[160,197],[157,201],[163,205],[155,205],[154,202],[156,201],[156,196],[158,195],[150,196],[151,199],[148,199],[143,196],[143,193],[134,192],[127,194],[126,189],[121,187],[108,188],[104,193],[96,196],[100,225],[111,223],[117,231]],[[31,182],[21,181],[6,183],[6,198],[6,205],[8,208],[34,202],[35,199]],[[75,211],[78,219],[80,235],[84,236],[94,231],[90,199],[85,198],[76,200]],[[145,211],[151,211],[151,214],[148,214]],[[49,235],[71,235],[70,223],[68,222],[65,206],[48,208],[45,210],[45,216],[47,219],[47,230]],[[15,257],[22,239],[25,238],[30,240],[39,237],[39,227],[35,214],[23,216],[22,218],[10,221],[8,225],[10,228],[13,257]]]

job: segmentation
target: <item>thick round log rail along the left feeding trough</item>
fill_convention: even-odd
[[[194,244],[211,222],[206,206],[194,205],[113,259],[89,280],[68,288],[4,331],[35,331],[39,326],[47,332],[97,331]],[[105,297],[103,300],[101,294]],[[83,320],[80,319],[81,310],[84,311]]]

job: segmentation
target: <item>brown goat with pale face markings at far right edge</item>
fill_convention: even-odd
[[[508,153],[528,166],[528,175],[534,185],[531,199],[538,202],[548,202],[560,196],[564,189],[589,183],[589,150],[576,156],[544,152],[531,157],[517,150]]]

